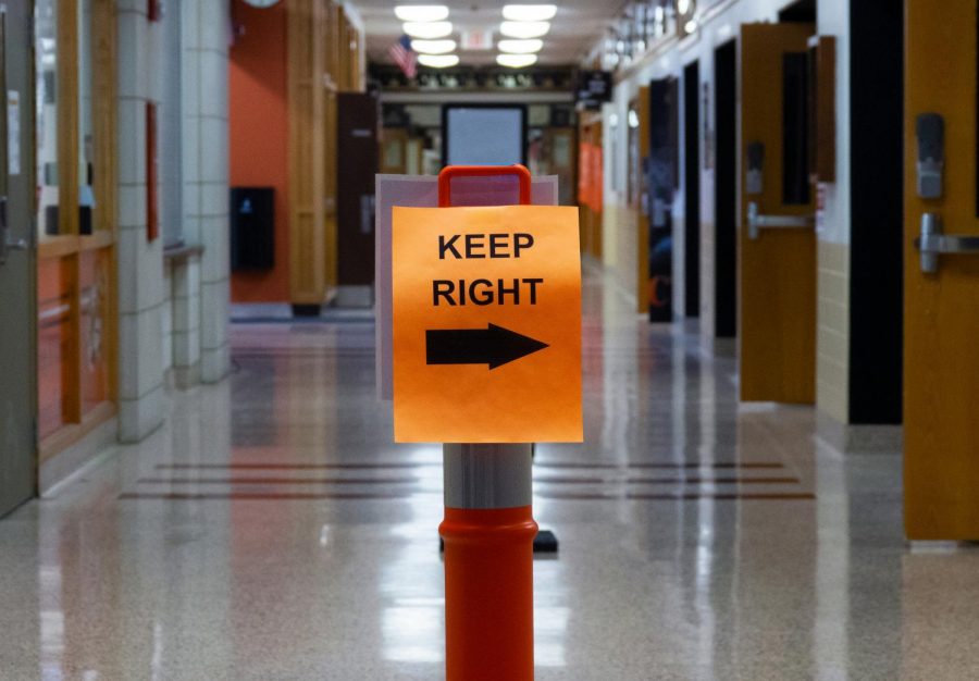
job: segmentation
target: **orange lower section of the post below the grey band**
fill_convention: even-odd
[[[447,681],[534,678],[534,536],[530,506],[446,508]]]

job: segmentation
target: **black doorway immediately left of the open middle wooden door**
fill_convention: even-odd
[[[714,179],[714,329],[717,338],[738,334],[738,44],[714,52],[716,169]]]

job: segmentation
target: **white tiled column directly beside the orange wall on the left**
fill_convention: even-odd
[[[200,259],[200,379],[213,383],[231,366],[227,347],[228,160],[227,3],[185,0],[185,235],[203,246]]]

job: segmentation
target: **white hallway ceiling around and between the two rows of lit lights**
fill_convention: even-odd
[[[453,23],[453,35],[457,42],[459,32],[475,28],[493,28],[493,49],[483,51],[462,51],[456,53],[461,58],[463,66],[486,65],[495,63],[496,42],[505,37],[499,35],[499,23],[503,21],[503,5],[533,4],[515,0],[424,0],[404,4],[445,4],[449,8],[448,21]],[[387,49],[401,36],[401,22],[394,14],[392,0],[355,0],[351,4],[360,12],[367,28],[368,59],[373,62],[392,63]],[[622,12],[625,0],[559,0],[558,13],[550,22],[550,32],[543,38],[544,49],[540,52],[541,64],[577,64],[592,48],[606,27]]]

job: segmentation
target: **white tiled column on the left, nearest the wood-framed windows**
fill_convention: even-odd
[[[146,2],[119,2],[119,428],[141,439],[164,417],[162,240],[147,239],[146,103],[159,47]]]

